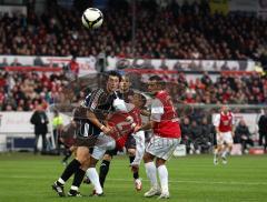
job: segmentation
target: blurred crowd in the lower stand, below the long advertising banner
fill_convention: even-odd
[[[139,82],[140,83],[140,82]],[[170,82],[171,84],[172,82]],[[63,72],[0,72],[0,110],[29,111],[38,103],[56,103],[63,94],[68,80]],[[187,81],[181,72],[169,88],[176,103],[181,104],[266,104],[267,78],[221,74],[214,82],[205,72],[200,79]],[[80,89],[76,92],[80,99]]]

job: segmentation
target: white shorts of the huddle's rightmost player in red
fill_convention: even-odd
[[[180,139],[152,135],[146,148],[146,152],[157,158],[168,160],[179,142]]]

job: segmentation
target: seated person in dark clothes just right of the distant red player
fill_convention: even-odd
[[[240,120],[235,130],[234,142],[241,144],[243,152],[247,153],[248,145],[254,145],[254,141],[251,140],[250,135],[251,134],[248,130],[248,127],[246,125],[246,122],[244,120]]]

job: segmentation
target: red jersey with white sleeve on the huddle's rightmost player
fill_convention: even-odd
[[[180,125],[170,95],[159,91],[151,104],[151,120],[156,122],[154,133],[162,138],[180,138]]]

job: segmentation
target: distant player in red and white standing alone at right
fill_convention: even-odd
[[[221,154],[222,163],[227,163],[227,154],[233,147],[234,138],[234,114],[229,111],[227,105],[222,105],[220,113],[214,119],[216,127],[217,145],[215,148],[214,164],[218,164],[218,154]]]

